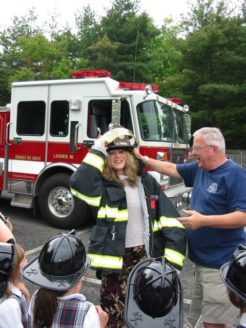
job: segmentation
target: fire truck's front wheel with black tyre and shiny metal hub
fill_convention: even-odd
[[[52,175],[43,183],[38,206],[43,218],[56,228],[74,229],[87,221],[87,204],[71,194],[68,173]]]

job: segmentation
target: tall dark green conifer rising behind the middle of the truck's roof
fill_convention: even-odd
[[[108,42],[115,48],[111,62],[109,60],[104,69],[111,70],[117,80],[150,83],[149,49],[152,38],[160,32],[146,12],[138,14],[139,9],[139,1],[116,0],[101,18],[100,33],[107,35]],[[96,52],[98,48],[91,50],[95,50],[91,64],[96,67],[102,54]]]

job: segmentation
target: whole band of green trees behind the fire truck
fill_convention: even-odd
[[[72,71],[104,69],[116,80],[158,84],[165,97],[189,104],[192,131],[220,128],[227,148],[244,148],[246,130],[246,0],[197,0],[179,24],[159,30],[139,0],[115,0],[98,17],[90,6],[75,14],[76,31],[59,15],[37,26],[35,8],[0,29],[0,101],[17,80],[69,78]],[[237,11],[236,11],[237,10]]]

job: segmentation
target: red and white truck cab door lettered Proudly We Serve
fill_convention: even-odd
[[[12,87],[8,191],[32,194],[45,166],[48,86],[29,83]]]

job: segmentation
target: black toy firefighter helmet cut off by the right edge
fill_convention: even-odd
[[[246,302],[246,247],[244,245],[238,245],[231,261],[222,265],[220,276],[229,290]]]

